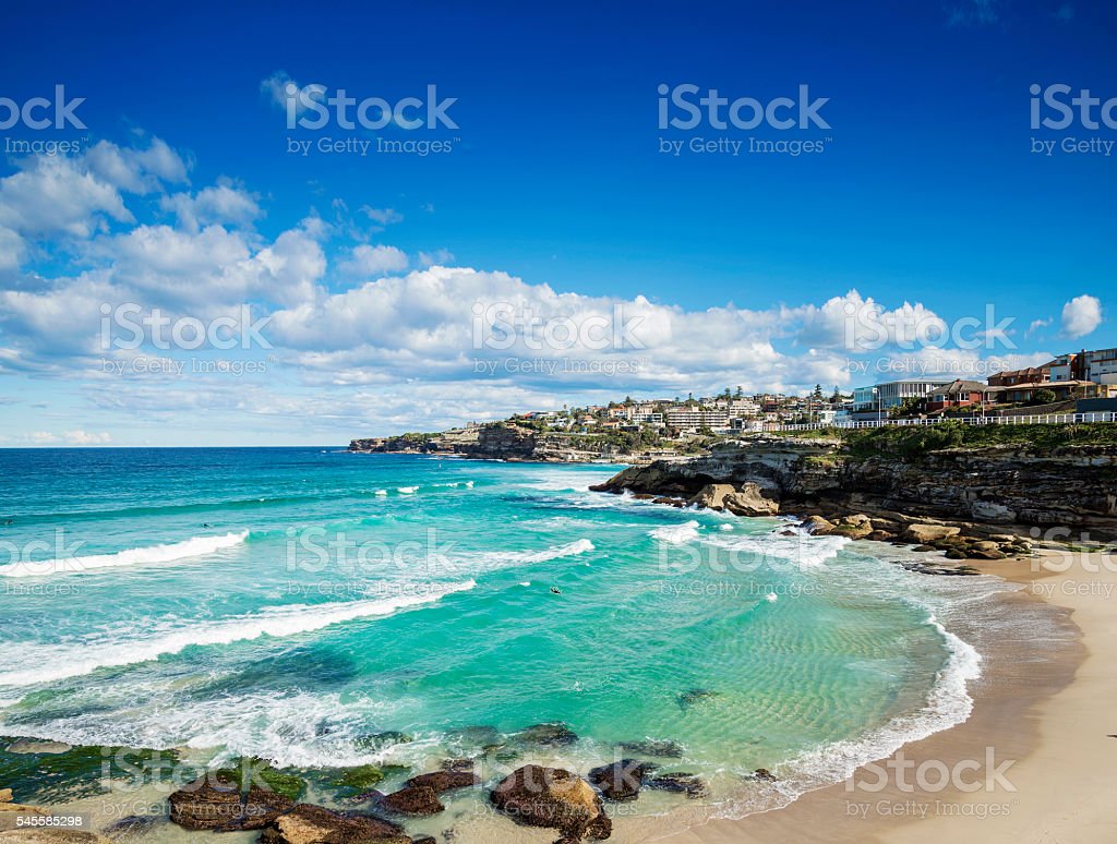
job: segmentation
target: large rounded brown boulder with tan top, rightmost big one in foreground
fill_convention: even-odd
[[[562,768],[517,768],[497,784],[489,799],[519,824],[558,829],[564,842],[612,834],[612,821],[600,795],[580,776]]]

